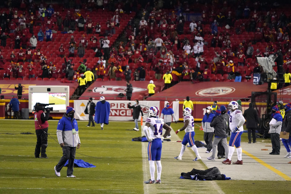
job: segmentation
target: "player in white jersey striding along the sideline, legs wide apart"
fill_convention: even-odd
[[[182,141],[182,148],[180,155],[175,157],[177,160],[182,160],[183,153],[185,152],[186,145],[189,143],[189,146],[191,149],[195,152],[196,158],[193,161],[201,160],[201,157],[199,156],[197,147],[194,143],[194,118],[192,116],[192,109],[187,107],[183,110],[183,119],[184,119],[184,126],[181,129],[178,129],[176,131],[176,134],[179,133],[180,131],[185,130],[185,135]]]

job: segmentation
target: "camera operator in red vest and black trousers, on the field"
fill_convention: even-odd
[[[48,120],[52,119],[49,116],[50,109],[45,106],[36,103],[34,106],[34,122],[35,122],[35,134],[36,134],[36,146],[35,146],[35,158],[48,158],[45,153],[45,149],[48,146]],[[46,111],[46,113],[44,112]],[[39,154],[41,153],[40,157]]]

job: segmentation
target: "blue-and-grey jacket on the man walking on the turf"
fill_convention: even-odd
[[[75,129],[76,134],[73,134],[73,129]],[[81,143],[76,119],[71,119],[64,114],[57,126],[57,137],[59,144],[64,143],[65,146],[76,147],[78,143]]]

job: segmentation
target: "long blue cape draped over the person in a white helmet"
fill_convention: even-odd
[[[108,119],[109,119],[109,113],[110,113],[110,104],[109,102],[106,102],[102,104],[101,101],[96,103],[95,107],[95,122],[98,123],[105,123],[108,125]]]

